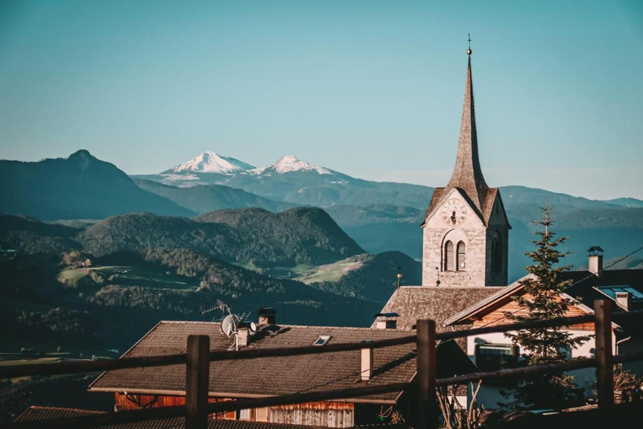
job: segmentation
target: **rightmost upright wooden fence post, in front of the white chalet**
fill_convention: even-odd
[[[596,349],[596,390],[599,410],[614,405],[614,374],[611,352],[611,302],[594,301],[594,332]]]

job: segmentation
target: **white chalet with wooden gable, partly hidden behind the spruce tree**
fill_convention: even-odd
[[[643,269],[603,270],[601,247],[592,247],[588,260],[588,270],[564,272],[561,280],[571,280],[572,286],[561,294],[561,298],[579,298],[579,303],[570,307],[566,316],[582,316],[593,314],[594,300],[612,301],[612,311],[631,311],[643,309]],[[460,325],[485,327],[511,323],[505,314],[507,312],[520,315],[526,310],[512,300],[513,296],[523,294],[521,280],[531,274],[515,281],[507,287],[494,292],[487,298],[478,301],[471,307],[454,314],[444,321],[444,327],[458,327]],[[573,298],[572,298],[573,297]],[[586,336],[594,332],[594,323],[573,325],[566,329],[573,336]],[[509,331],[515,333],[515,331]],[[643,323],[629,320],[612,323],[612,350],[614,354],[626,354],[643,350]],[[591,338],[580,347],[568,350],[570,358],[593,357],[595,340]],[[467,338],[467,355],[475,361],[482,371],[493,371],[508,368],[518,362],[521,354],[520,347],[513,345],[509,338],[502,332],[494,334],[480,334]],[[640,361],[624,363],[623,367],[643,375],[643,364]],[[575,383],[579,393],[584,396],[593,396],[595,383],[594,368],[585,368],[570,372],[576,377]],[[478,402],[483,402],[486,408],[496,408],[498,403],[507,402],[507,398],[500,394],[506,386],[497,382],[486,383],[478,393]]]

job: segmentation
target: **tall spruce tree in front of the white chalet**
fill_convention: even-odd
[[[571,265],[560,265],[560,262],[570,252],[560,252],[557,247],[564,243],[567,237],[554,238],[551,230],[552,207],[543,207],[543,219],[532,222],[539,226],[534,234],[538,240],[532,240],[536,245],[534,251],[525,252],[533,261],[525,267],[529,276],[520,280],[523,293],[512,299],[520,306],[520,311],[506,312],[505,317],[514,321],[528,319],[553,319],[563,317],[568,309],[577,304],[574,298],[562,296],[571,280],[563,280],[562,274],[569,271]],[[566,327],[518,330],[515,334],[505,333],[512,342],[521,348],[521,356],[527,365],[544,365],[564,361],[568,352],[583,344],[591,336],[574,337],[565,330]],[[564,372],[545,374],[520,381],[514,392],[507,394],[512,397],[509,405],[516,408],[562,408],[574,401],[574,377]]]

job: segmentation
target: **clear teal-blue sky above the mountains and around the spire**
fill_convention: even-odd
[[[643,1],[0,1],[0,158],[211,149],[444,186],[471,33],[490,186],[643,198]]]

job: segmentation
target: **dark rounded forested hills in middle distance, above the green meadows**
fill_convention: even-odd
[[[314,207],[282,213],[216,211],[194,220],[125,214],[87,227],[77,240],[95,256],[149,247],[188,249],[257,267],[319,265],[363,253],[328,214]]]

